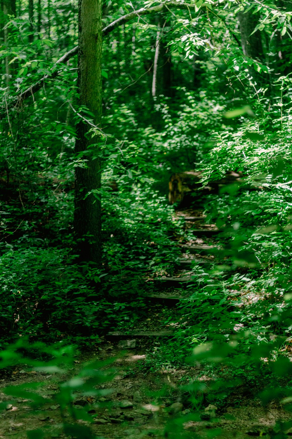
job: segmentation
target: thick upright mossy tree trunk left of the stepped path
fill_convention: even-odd
[[[79,0],[78,93],[79,104],[93,114],[100,127],[102,113],[102,1]],[[101,200],[91,191],[101,187],[98,139],[87,134],[83,121],[77,126],[76,154],[86,151],[86,168],[75,171],[74,230],[81,261],[101,265]],[[88,194],[89,193],[89,194]]]

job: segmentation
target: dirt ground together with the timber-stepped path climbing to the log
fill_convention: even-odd
[[[162,276],[158,275],[157,279],[148,279],[148,282],[153,281],[154,284],[158,281],[158,288],[155,287],[148,296],[151,298],[148,315],[130,331],[109,333],[108,338],[104,338],[95,350],[76,357],[74,367],[63,374],[27,371],[19,367],[10,370],[0,380],[0,399],[9,403],[0,415],[0,439],[11,436],[25,439],[27,431],[36,429],[42,429],[45,438],[72,437],[62,432],[62,423],[68,422],[70,414],[68,410],[62,414],[56,395],[60,383],[76,376],[84,364],[92,360],[105,362],[102,370],[113,374],[109,381],[97,387],[101,390],[109,389],[110,392],[105,392],[103,397],[96,396],[95,392],[86,397],[76,395],[73,405],[93,417],[91,430],[97,437],[274,437],[277,428],[280,428],[277,424],[279,419],[283,422],[290,420],[289,412],[278,403],[271,402],[263,407],[256,397],[256,391],[244,386],[236,388],[236,392],[225,400],[224,406],[217,408],[202,401],[195,411],[184,398],[181,383],[184,378],[208,382],[210,377],[202,374],[200,366],[178,369],[164,366],[160,371],[151,371],[148,356],[151,356],[161,337],[171,335],[181,324],[181,314],[178,314],[178,321],[173,322],[176,321],[176,303],[182,294],[187,294],[187,290],[182,292],[179,285],[182,282],[187,284],[192,274],[188,264],[194,258],[201,258],[202,263],[204,260],[212,260],[214,256],[210,252],[205,255],[203,250],[206,246],[209,249],[218,246],[216,227],[204,227],[201,212],[177,212],[176,216],[186,217],[186,227],[205,232],[184,243],[182,265],[175,273],[161,273]],[[200,231],[197,234],[200,235]],[[166,318],[169,315],[172,315],[172,320]],[[15,399],[11,403],[11,397],[3,392],[7,386],[22,386],[24,390],[27,386],[29,389],[32,383],[40,383],[34,391],[48,399],[48,404],[42,405],[41,409],[32,409],[29,399],[24,398]],[[86,420],[75,422],[77,425],[90,424]],[[285,431],[285,434],[292,435],[292,429]],[[38,439],[42,436],[34,437]]]

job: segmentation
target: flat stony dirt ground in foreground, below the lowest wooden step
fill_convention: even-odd
[[[88,360],[113,360],[106,366],[115,377],[101,385],[101,389],[110,389],[105,398],[76,396],[74,406],[84,408],[95,421],[91,430],[102,438],[248,438],[250,436],[275,435],[274,426],[281,419],[288,421],[290,415],[276,403],[262,407],[253,396],[243,396],[245,389],[239,389],[216,417],[193,421],[191,410],[185,408],[179,394],[179,382],[184,374],[195,374],[196,370],[170,370],[148,372],[143,370],[143,362],[149,346],[129,349],[121,352],[117,344],[105,343],[102,349],[91,356],[79,357],[72,371],[63,375],[24,372],[15,369],[10,377],[2,379],[2,386],[31,385],[42,383],[37,393],[47,398],[49,403],[39,410],[32,410],[27,399],[17,399],[7,407],[0,417],[0,439],[15,437],[26,439],[26,431],[43,429],[48,438],[71,438],[61,432],[62,422],[69,419],[69,414],[60,415],[57,401],[51,402],[57,394],[61,382],[76,375]],[[1,387],[2,387],[1,386]],[[168,389],[168,396],[159,398],[159,391]],[[156,395],[156,396],[155,396]],[[0,391],[2,401],[10,398]],[[239,405],[240,400],[240,405]],[[201,414],[206,414],[207,407],[202,407]],[[88,421],[77,424],[89,425]],[[176,430],[177,429],[177,430]],[[292,435],[292,432],[287,432]],[[85,439],[85,438],[84,438]]]

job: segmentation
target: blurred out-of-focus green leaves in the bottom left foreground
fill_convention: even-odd
[[[35,359],[35,357],[46,356],[47,361]],[[90,361],[82,364],[78,373],[70,374],[73,369],[76,357],[73,346],[65,345],[62,342],[56,345],[46,346],[40,342],[29,343],[25,338],[21,338],[14,345],[9,345],[0,351],[0,369],[24,366],[27,371],[41,372],[46,374],[48,379],[52,374],[56,377],[64,376],[65,381],[58,380],[56,392],[51,398],[42,396],[44,382],[31,382],[21,385],[10,385],[4,388],[5,400],[0,404],[0,410],[10,410],[17,407],[18,400],[25,399],[29,407],[29,414],[33,419],[34,415],[45,416],[49,407],[58,410],[61,424],[49,425],[45,428],[29,429],[26,431],[28,439],[42,437],[56,437],[56,435],[67,434],[77,439],[95,438],[90,423],[94,422],[94,415],[89,414],[86,407],[73,405],[76,396],[85,398],[90,395],[98,400],[108,394],[108,390],[97,389],[101,384],[113,379],[113,372],[102,371],[106,362]],[[109,364],[109,362],[108,362]],[[63,378],[64,379],[64,378]],[[79,421],[86,421],[88,425],[82,425]]]

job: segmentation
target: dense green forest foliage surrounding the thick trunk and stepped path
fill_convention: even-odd
[[[87,348],[104,331],[129,331],[146,315],[145,278],[172,274],[179,259],[173,237],[191,237],[166,205],[169,176],[202,170],[207,184],[228,170],[242,171],[240,188],[223,187],[204,198],[207,222],[223,230],[224,249],[210,269],[193,266],[179,323],[168,322],[177,325],[176,334],[151,349],[144,367],[185,367],[187,356],[189,364],[199,365],[211,377],[208,391],[198,377],[182,383],[196,410],[205,403],[223,406],[240,385],[256,388],[264,404],[275,395],[291,402],[291,389],[281,382],[291,372],[291,14],[280,3],[190,2],[189,10],[164,11],[159,25],[157,17],[145,15],[145,21],[126,22],[104,39],[102,144],[94,147],[103,161],[102,190],[92,191],[102,197],[101,269],[78,261],[73,235],[74,169],[86,168],[92,153],[74,154],[76,125],[86,119],[88,136],[100,130],[77,104],[77,61],[58,65],[56,78],[15,106],[19,92],[54,75],[53,63],[74,47],[77,2],[55,2],[56,10],[45,11],[50,27],[42,22],[38,30],[35,16],[33,31],[27,2],[17,2],[17,17],[1,14],[7,31],[0,36],[3,345],[27,336],[71,338]],[[151,6],[156,2],[134,4]],[[104,25],[131,11],[131,4],[105,2]],[[243,53],[239,12],[257,20],[252,35],[261,32],[263,57]],[[171,75],[165,95],[153,98],[162,26],[165,58],[158,83],[165,66]],[[108,191],[109,180],[118,192]],[[16,361],[37,367],[19,349],[20,341],[1,352],[2,367]],[[69,348],[41,350],[56,355],[52,367],[72,363]],[[62,426],[67,435],[91,437],[75,422],[88,414],[71,405],[76,389],[85,391],[88,382],[92,387],[89,369],[79,381],[60,386],[58,403],[71,419]],[[30,392],[34,406],[44,402],[33,388],[8,390],[15,397]],[[173,434],[176,428],[181,425],[174,425]]]

